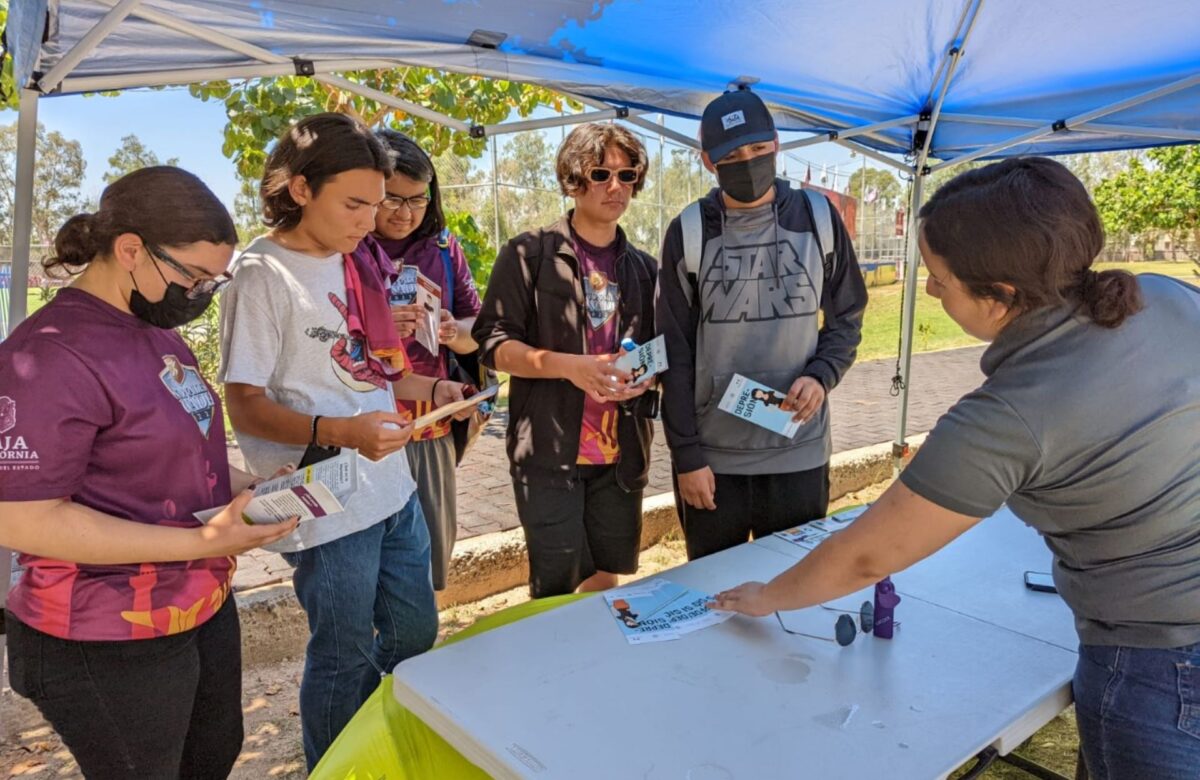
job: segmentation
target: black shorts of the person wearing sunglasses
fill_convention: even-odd
[[[581,466],[570,487],[514,480],[512,488],[533,598],[574,593],[596,571],[637,571],[642,491],[625,492],[616,466]]]

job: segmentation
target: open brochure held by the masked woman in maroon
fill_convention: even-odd
[[[246,505],[247,523],[280,523],[298,515],[301,521],[343,511],[346,502],[359,487],[359,456],[346,450],[336,457],[296,469],[290,474],[260,482],[254,498]],[[224,506],[196,512],[209,522]]]

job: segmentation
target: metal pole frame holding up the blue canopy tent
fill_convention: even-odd
[[[445,125],[460,132],[469,132],[476,138],[497,136],[500,133],[518,132],[522,130],[536,130],[545,127],[557,127],[592,120],[620,119],[638,127],[652,130],[664,137],[696,149],[698,144],[695,139],[678,133],[660,124],[643,116],[650,110],[667,112],[668,108],[647,108],[637,104],[632,98],[629,104],[623,104],[620,100],[599,100],[589,97],[583,92],[594,89],[598,92],[620,94],[622,71],[604,70],[586,62],[552,62],[552,71],[539,79],[522,79],[520,73],[522,64],[536,61],[541,67],[547,67],[547,61],[542,58],[534,58],[528,54],[514,54],[499,52],[488,42],[481,43],[440,43],[430,41],[412,40],[383,40],[373,43],[383,44],[391,56],[356,58],[353,53],[344,56],[324,56],[312,59],[302,52],[293,55],[280,54],[257,44],[250,43],[227,32],[215,30],[200,24],[181,19],[170,13],[146,7],[143,0],[90,0],[101,8],[106,8],[104,16],[95,24],[76,44],[44,73],[34,73],[32,77],[20,85],[19,115],[18,115],[18,144],[17,144],[17,175],[16,175],[16,209],[13,215],[13,265],[12,265],[12,293],[10,296],[10,323],[11,326],[19,324],[26,314],[26,290],[29,281],[30,236],[32,224],[32,191],[34,191],[34,162],[35,142],[37,128],[37,107],[42,98],[52,97],[56,94],[77,94],[100,90],[120,90],[145,86],[160,86],[168,84],[191,84],[204,80],[218,79],[248,79],[276,76],[302,74],[310,76],[331,86],[343,89],[365,97],[376,100],[386,106],[421,116],[433,122]],[[1027,144],[1036,139],[1042,139],[1068,131],[1086,131],[1088,133],[1112,134],[1122,137],[1135,137],[1160,140],[1168,143],[1200,142],[1200,131],[1141,127],[1130,125],[1103,124],[1104,116],[1122,112],[1130,107],[1141,106],[1160,97],[1200,85],[1200,68],[1195,73],[1180,78],[1165,85],[1148,89],[1139,95],[1126,100],[1098,106],[1091,110],[1063,116],[1054,122],[1044,119],[1020,118],[1020,116],[990,116],[967,113],[943,112],[943,104],[954,82],[959,66],[967,55],[968,42],[976,24],[980,18],[984,0],[965,0],[959,16],[955,34],[947,42],[941,55],[937,71],[929,92],[919,113],[905,113],[884,120],[847,121],[841,118],[811,107],[797,107],[796,104],[775,104],[778,115],[792,116],[806,122],[808,126],[820,128],[820,132],[798,140],[790,140],[782,144],[784,150],[798,149],[818,143],[834,143],[844,148],[852,149],[876,162],[895,168],[911,176],[912,187],[908,199],[907,214],[907,254],[905,259],[905,288],[901,314],[901,346],[900,346],[900,402],[896,420],[896,434],[893,442],[893,455],[896,468],[901,457],[907,452],[906,426],[907,407],[910,392],[910,372],[912,361],[912,336],[913,336],[913,312],[917,295],[917,271],[920,257],[917,251],[914,239],[917,230],[917,212],[923,200],[924,185],[930,173],[962,164],[973,160],[998,155],[1006,150],[1021,144]],[[112,73],[107,76],[73,76],[76,70],[86,58],[96,50],[104,40],[114,31],[121,29],[130,18],[148,22],[176,34],[208,43],[217,49],[232,52],[246,58],[244,62],[226,66],[211,67],[184,67],[174,70],[162,70],[157,72],[131,72]],[[394,95],[386,95],[370,86],[359,84],[337,76],[340,72],[360,70],[383,70],[401,66],[432,66],[454,72],[473,73],[481,77],[505,78],[511,80],[529,80],[551,89],[558,89],[569,97],[582,102],[592,110],[566,116],[522,120],[503,122],[498,125],[470,125],[452,116],[442,114],[430,108],[412,103]],[[515,78],[514,73],[518,76]],[[745,77],[736,77],[731,83],[744,82]],[[564,84],[574,84],[572,89],[564,89]],[[644,100],[644,97],[640,97]],[[770,102],[770,101],[768,101]],[[935,149],[935,137],[938,127],[946,122],[960,122],[973,125],[988,125],[997,131],[1007,132],[1008,136],[1001,142],[974,149],[961,155],[947,155],[947,150],[938,149],[941,160],[930,166],[930,154]],[[881,154],[877,148],[872,148],[860,139],[874,140],[880,148],[894,149],[896,140],[880,134],[886,130],[907,128],[911,131],[912,144],[907,150],[905,162],[899,162],[886,154]],[[0,580],[0,605],[2,594],[7,589],[7,580]]]

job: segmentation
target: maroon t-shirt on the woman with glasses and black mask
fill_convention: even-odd
[[[70,287],[0,342],[0,502],[65,497],[181,528],[230,500],[221,403],[184,340]],[[221,607],[235,566],[20,564],[8,610],[68,640],[193,629]]]

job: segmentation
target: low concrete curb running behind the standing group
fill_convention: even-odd
[[[908,439],[910,457],[924,440],[924,433]],[[890,442],[839,452],[829,463],[829,500],[890,476]],[[642,503],[642,550],[656,545],[678,527],[674,496],[660,493]],[[438,608],[510,590],[528,582],[528,577],[524,533],[520,528],[466,539],[455,545],[449,583],[438,594]],[[290,581],[241,592],[238,607],[246,666],[274,664],[304,654],[308,624]]]

